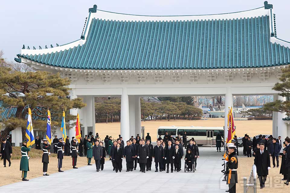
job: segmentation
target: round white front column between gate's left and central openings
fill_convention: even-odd
[[[129,98],[127,88],[122,88],[121,96],[121,137],[124,141],[130,138]]]

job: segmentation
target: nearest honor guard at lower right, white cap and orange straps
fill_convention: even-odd
[[[235,145],[227,145],[229,155],[227,161],[227,168],[229,169],[227,173],[227,184],[229,185],[229,192],[236,193],[236,183],[238,183],[238,158],[236,153]]]

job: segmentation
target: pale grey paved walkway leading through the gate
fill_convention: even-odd
[[[183,192],[194,190],[195,192],[224,193],[227,190],[227,185],[221,181],[223,178],[221,173],[222,152],[216,152],[214,147],[199,147],[199,151],[201,156],[197,160],[195,173],[184,172],[184,161],[182,161],[182,172],[154,172],[154,163],[152,163],[152,171],[146,173],[139,172],[139,167],[133,172],[125,172],[126,162],[123,161],[122,172],[115,173],[111,161],[106,161],[104,170],[100,172],[96,172],[95,165],[84,166],[79,169],[66,170],[63,173],[30,179],[28,182],[5,185],[0,187],[0,190],[1,192],[17,192],[31,187],[29,192],[39,192],[45,189],[50,192],[63,190],[75,192],[87,188],[98,192],[108,190],[132,192],[132,189],[137,190],[136,188],[138,188],[146,190],[146,192],[159,192],[162,187],[169,186],[172,191],[175,188],[181,188]],[[45,188],[46,186],[47,188]]]

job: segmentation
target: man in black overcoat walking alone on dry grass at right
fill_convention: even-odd
[[[260,189],[265,187],[265,182],[267,179],[267,175],[269,173],[270,166],[270,155],[268,150],[265,150],[265,144],[260,144],[260,149],[254,152],[255,160],[254,164],[257,167],[257,174],[260,181]]]

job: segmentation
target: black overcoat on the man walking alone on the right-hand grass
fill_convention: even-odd
[[[255,155],[254,164],[257,167],[258,176],[268,175],[268,167],[270,167],[270,155],[267,150],[264,149],[263,155],[260,153],[260,150],[257,150]]]

